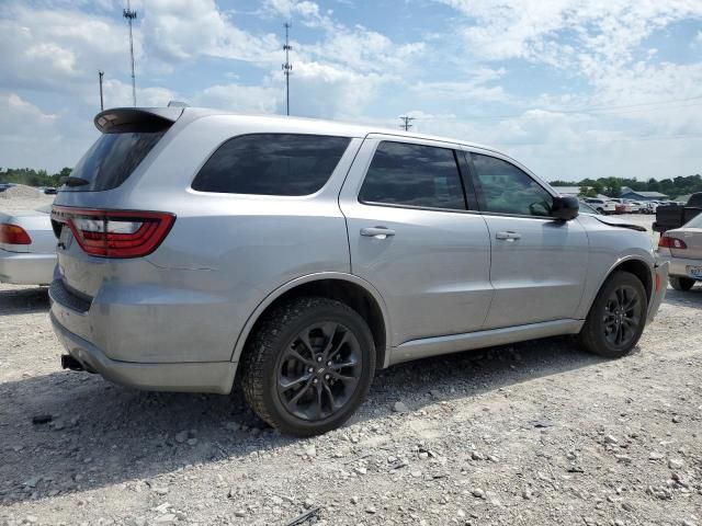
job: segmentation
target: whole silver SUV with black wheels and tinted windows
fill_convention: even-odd
[[[64,367],[341,425],[376,368],[558,334],[623,356],[667,283],[641,227],[460,140],[117,108],[55,201]]]

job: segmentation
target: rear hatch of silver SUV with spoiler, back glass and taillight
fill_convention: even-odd
[[[90,300],[116,264],[151,253],[174,221],[171,214],[128,206],[131,178],[140,178],[182,108],[116,108],[95,116],[101,136],[59,188],[52,211],[61,284]],[[116,205],[115,205],[116,204]]]

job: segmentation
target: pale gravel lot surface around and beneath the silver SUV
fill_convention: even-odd
[[[702,525],[700,286],[626,358],[561,338],[396,366],[304,441],[236,395],[60,370],[47,310],[0,285],[0,525]]]

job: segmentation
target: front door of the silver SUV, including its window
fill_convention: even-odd
[[[573,318],[588,270],[580,222],[552,219],[552,194],[506,158],[467,152],[466,159],[492,247],[495,297],[485,329]]]

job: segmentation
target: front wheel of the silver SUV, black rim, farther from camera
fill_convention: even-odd
[[[625,356],[644,332],[647,312],[648,298],[641,281],[629,272],[615,271],[595,298],[578,341],[598,356]]]

